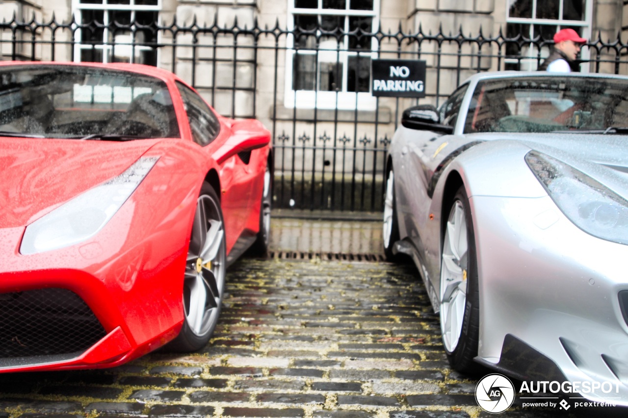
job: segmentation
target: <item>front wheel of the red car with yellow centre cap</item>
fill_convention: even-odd
[[[204,183],[197,200],[183,277],[183,326],[166,350],[189,352],[207,345],[220,316],[226,269],[220,200],[214,188]]]

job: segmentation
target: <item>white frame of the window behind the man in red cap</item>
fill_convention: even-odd
[[[530,27],[533,28],[534,25],[553,25],[558,26],[558,30],[563,27],[574,27],[578,26],[582,28],[582,37],[585,39],[590,39],[591,36],[591,22],[593,16],[593,0],[585,0],[585,18],[583,20],[566,20],[566,19],[537,19],[537,18],[511,18],[510,17],[510,7],[511,4],[516,0],[509,0],[506,4],[506,24],[509,23],[520,23],[520,24],[529,24]],[[532,6],[532,16],[536,16],[536,5],[539,1],[543,0],[530,0],[533,2]],[[563,4],[565,0],[561,0],[560,8],[558,11],[558,16],[563,16]],[[524,36],[531,38],[531,33],[526,33]],[[529,43],[528,45],[522,45],[521,47],[521,70],[524,71],[534,71],[538,67],[538,47],[534,43]],[[549,55],[549,47],[544,47],[541,50],[541,57],[546,58]],[[588,48],[582,48],[580,51],[580,56],[583,60],[588,60],[590,58],[590,51]],[[513,58],[506,58],[504,60],[506,63],[517,63],[519,60]],[[589,72],[588,66],[585,65],[582,68],[582,72]]]

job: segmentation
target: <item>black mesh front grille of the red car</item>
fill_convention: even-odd
[[[72,358],[105,335],[89,306],[67,289],[0,294],[0,367],[45,361],[33,356]]]

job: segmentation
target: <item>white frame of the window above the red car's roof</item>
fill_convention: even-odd
[[[87,45],[80,43],[82,40],[82,29],[77,29],[75,31],[74,38],[74,62],[80,62],[81,51],[82,50],[101,50],[102,51],[102,62],[109,62],[109,55],[112,54],[114,49],[114,44],[109,43],[109,11],[129,11],[131,12],[131,21],[135,21],[135,12],[138,11],[153,11],[159,12],[161,11],[161,3],[163,0],[157,0],[156,6],[146,6],[143,4],[135,4],[135,0],[129,0],[130,4],[107,4],[107,0],[101,0],[101,4],[92,4],[92,3],[80,3],[80,0],[72,0],[72,12],[74,16],[76,16],[75,20],[77,22],[82,22],[83,11],[84,10],[98,10],[103,11],[103,20],[104,20],[104,29],[102,35],[102,44],[100,45]],[[78,28],[78,25],[75,25],[75,28]],[[149,51],[152,48],[150,46],[143,45],[133,45],[133,35],[117,35],[116,38],[119,38],[119,41],[115,43],[116,45],[116,55],[117,56],[129,56],[129,60],[133,53],[136,56],[139,55],[141,51]],[[161,41],[161,32],[157,33],[158,43]],[[132,46],[133,45],[133,46]],[[137,61],[134,61],[137,62]],[[157,62],[160,62],[160,48],[157,48]]]

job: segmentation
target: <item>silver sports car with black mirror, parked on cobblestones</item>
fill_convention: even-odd
[[[418,266],[452,367],[628,405],[628,77],[480,73],[402,125],[384,250]]]

